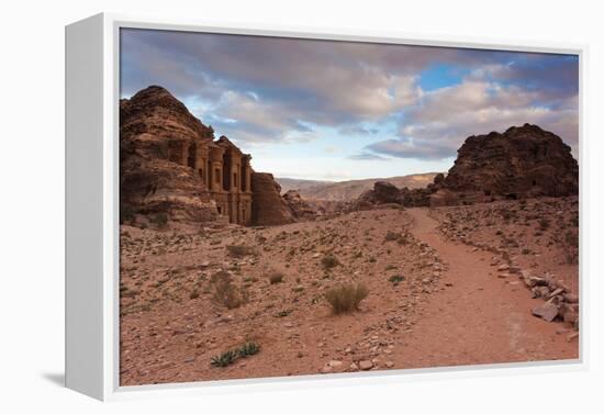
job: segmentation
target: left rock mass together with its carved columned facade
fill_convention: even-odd
[[[161,87],[120,102],[122,217],[251,224],[250,159]]]

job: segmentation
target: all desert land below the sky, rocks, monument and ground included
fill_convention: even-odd
[[[553,133],[328,182],[255,171],[161,87],[120,112],[122,385],[579,358],[579,167]]]

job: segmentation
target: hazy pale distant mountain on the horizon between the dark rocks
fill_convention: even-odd
[[[281,186],[281,193],[298,190],[305,200],[350,201],[357,199],[363,191],[373,188],[376,181],[387,181],[398,188],[424,188],[434,181],[438,172],[413,174],[410,176],[390,178],[368,178],[350,181],[314,181],[291,178],[276,178]]]

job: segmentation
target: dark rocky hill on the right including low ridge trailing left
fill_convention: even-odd
[[[447,176],[438,174],[423,189],[374,183],[350,204],[367,210],[380,204],[439,206],[497,199],[564,197],[579,192],[579,166],[562,139],[537,125],[513,126],[503,134],[470,136]]]

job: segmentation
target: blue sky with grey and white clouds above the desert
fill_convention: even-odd
[[[256,171],[447,171],[470,135],[537,124],[579,149],[575,55],[122,29],[121,96],[168,89]]]

